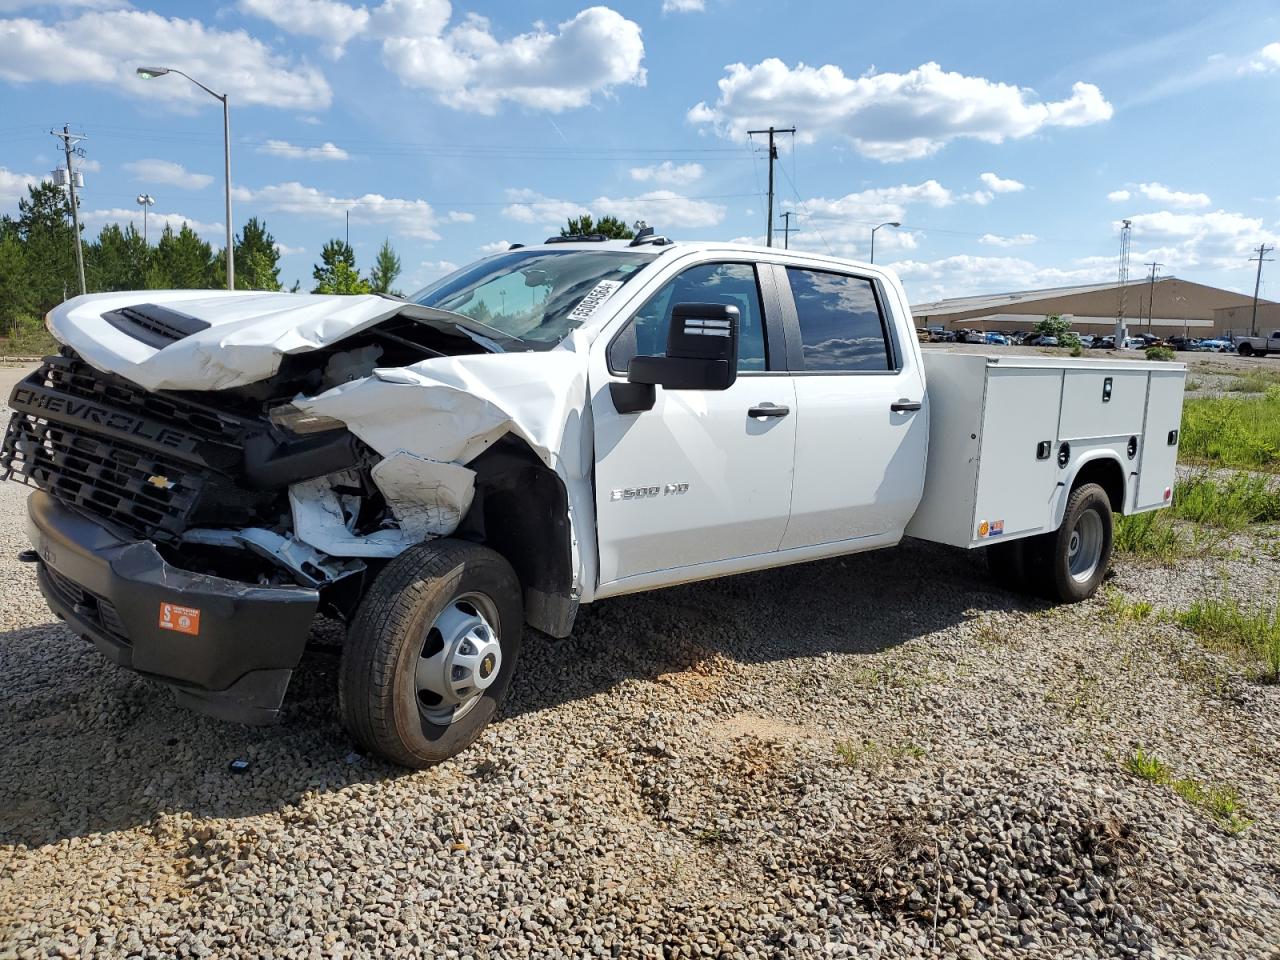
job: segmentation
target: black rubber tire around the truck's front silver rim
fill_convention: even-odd
[[[425,649],[439,641],[436,618],[456,600],[463,611],[485,605],[483,620],[497,635],[500,658],[489,686],[457,708],[461,716],[440,723],[429,714],[442,708],[424,703],[415,677]],[[489,618],[497,623],[488,625]],[[520,657],[522,628],[520,581],[500,554],[462,540],[411,547],[378,575],[347,631],[338,678],[343,724],[361,748],[402,767],[447,760],[470,746],[497,713]]]

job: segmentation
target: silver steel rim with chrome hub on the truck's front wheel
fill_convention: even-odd
[[[502,645],[497,622],[498,608],[484,594],[461,594],[436,614],[410,678],[425,722],[456,723],[498,678]]]

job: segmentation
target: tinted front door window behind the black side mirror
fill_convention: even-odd
[[[609,369],[626,372],[632,357],[667,352],[667,328],[676,303],[728,303],[737,307],[737,369],[764,370],[764,310],[750,264],[691,266],[659,289],[609,347]]]

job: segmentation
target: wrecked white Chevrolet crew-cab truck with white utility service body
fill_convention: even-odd
[[[411,300],[106,293],[47,324],[0,475],[36,488],[52,611],[259,723],[338,617],[343,719],[411,767],[582,603],[904,535],[1089,596],[1112,516],[1170,500],[1185,372],[922,353],[882,268],[652,233],[513,246]]]

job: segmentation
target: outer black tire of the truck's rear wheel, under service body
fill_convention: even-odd
[[[1079,536],[1073,540],[1073,536]],[[1100,538],[1093,557],[1093,538]],[[1079,603],[1097,593],[1111,566],[1114,517],[1111,498],[1098,484],[1082,484],[1071,490],[1062,525],[1051,534],[1029,538],[1024,547],[1028,589],[1047,600]],[[1073,544],[1078,550],[1073,552]],[[1076,561],[1079,549],[1085,554]],[[1076,570],[1073,572],[1073,562]]]

